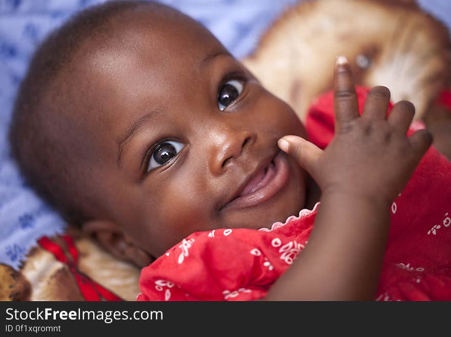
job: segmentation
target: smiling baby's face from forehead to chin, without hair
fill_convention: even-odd
[[[297,214],[305,172],[277,147],[306,136],[293,110],[199,24],[127,15],[79,81],[99,220],[159,256],[194,231]]]

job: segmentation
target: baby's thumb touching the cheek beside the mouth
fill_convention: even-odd
[[[277,142],[279,148],[292,156],[299,166],[315,177],[315,166],[322,150],[298,136],[284,136]]]

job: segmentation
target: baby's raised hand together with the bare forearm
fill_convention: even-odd
[[[321,188],[309,244],[268,292],[269,300],[372,300],[389,232],[389,205],[432,143],[426,130],[407,137],[414,106],[399,102],[386,119],[390,93],[373,88],[362,117],[346,58],[334,76],[335,136],[321,151],[297,136],[279,147]],[[334,275],[331,282],[330,275]]]

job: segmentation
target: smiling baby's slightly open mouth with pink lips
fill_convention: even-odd
[[[288,181],[290,168],[281,151],[265,158],[238,185],[223,209],[248,208],[261,204],[279,192]]]

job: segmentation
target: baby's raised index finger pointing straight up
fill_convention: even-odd
[[[335,129],[359,117],[357,93],[351,67],[345,56],[338,56],[334,73]]]

